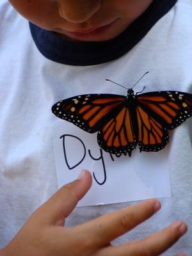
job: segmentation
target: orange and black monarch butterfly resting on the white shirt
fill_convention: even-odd
[[[52,106],[58,118],[86,132],[98,132],[99,146],[111,154],[157,152],[169,142],[172,130],[192,116],[192,94],[175,91],[134,94],[79,95]]]

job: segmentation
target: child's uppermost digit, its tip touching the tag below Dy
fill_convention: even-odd
[[[66,218],[72,212],[91,186],[92,175],[84,170],[77,180],[60,188],[34,212],[36,220],[42,224],[60,222],[62,218]]]

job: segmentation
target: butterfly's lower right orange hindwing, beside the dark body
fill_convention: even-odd
[[[140,152],[157,152],[164,148],[169,141],[168,130],[140,106],[136,108],[136,116]]]

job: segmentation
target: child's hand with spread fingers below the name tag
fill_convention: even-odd
[[[153,256],[167,250],[187,230],[185,223],[177,221],[141,241],[111,246],[113,239],[147,220],[160,209],[155,199],[125,207],[76,227],[63,227],[65,218],[91,185],[92,177],[84,171],[79,179],[63,186],[33,212],[19,233],[0,251],[0,255]]]

